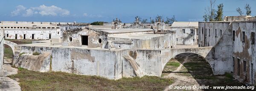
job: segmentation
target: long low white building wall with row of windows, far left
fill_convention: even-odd
[[[8,34],[8,36],[7,36]],[[5,29],[6,39],[15,39],[15,34],[17,34],[17,39],[23,39],[24,34],[26,34],[26,39],[32,39],[32,34],[34,35],[34,39],[49,39],[49,34],[51,34],[51,38],[53,36],[62,36],[62,32],[60,29],[35,29],[35,30],[7,30]]]

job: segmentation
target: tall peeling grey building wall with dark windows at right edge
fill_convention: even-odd
[[[214,47],[207,57],[210,60],[222,62],[215,65],[222,70],[222,73],[233,73],[233,76],[240,82],[255,84],[256,49],[255,44],[252,44],[252,33],[256,33],[256,21],[237,21],[231,22],[230,25],[227,24],[228,22],[200,22],[199,28],[201,27],[204,33],[202,31],[199,33],[199,44],[201,47]],[[209,28],[213,30],[213,33],[209,33]],[[217,29],[216,37],[214,29]],[[220,35],[219,29],[226,30],[222,30],[222,35]],[[254,42],[256,42],[255,39]]]

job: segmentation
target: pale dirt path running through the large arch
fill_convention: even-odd
[[[172,85],[175,87],[175,85],[177,86],[191,86],[191,85],[197,85],[199,86],[199,84],[197,83],[197,81],[192,78],[192,77],[187,77],[187,76],[181,76],[181,75],[177,75],[177,72],[180,72],[181,68],[183,67],[183,64],[188,62],[190,55],[187,55],[186,58],[184,59],[183,63],[180,64],[180,66],[173,71],[172,73],[164,76],[165,78],[175,78],[175,83],[173,83]],[[166,89],[164,91],[183,91],[184,89],[170,89],[169,86],[166,87]],[[202,91],[201,89],[190,89],[192,91]]]

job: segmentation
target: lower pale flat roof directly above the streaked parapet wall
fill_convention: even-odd
[[[119,35],[110,35],[112,38],[123,38],[123,39],[149,39],[159,36],[165,36],[167,34],[119,34]]]

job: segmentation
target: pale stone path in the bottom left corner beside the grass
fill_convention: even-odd
[[[12,68],[10,64],[3,64],[3,73],[0,77],[0,91],[21,91],[20,85],[8,75],[17,74],[18,69]]]

